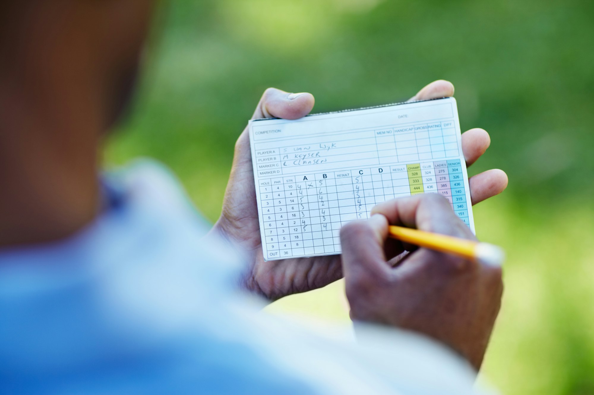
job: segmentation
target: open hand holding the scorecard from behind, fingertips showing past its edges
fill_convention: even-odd
[[[454,87],[447,81],[427,85],[411,100],[449,97]],[[289,94],[270,88],[255,110],[252,119],[279,117],[298,119],[314,107],[314,97],[309,93]],[[462,150],[466,164],[473,164],[488,148],[489,135],[482,129],[471,129],[462,135]],[[251,254],[245,270],[243,286],[276,300],[286,295],[321,288],[342,278],[340,256],[293,258],[264,262],[260,238],[260,223],[256,204],[254,174],[247,128],[235,145],[235,158],[225,192],[223,212],[213,228],[233,244]],[[501,170],[488,170],[470,178],[472,203],[478,203],[502,192],[507,186],[507,176]]]

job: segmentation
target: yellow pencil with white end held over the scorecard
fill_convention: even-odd
[[[485,265],[501,266],[505,259],[505,253],[501,247],[443,234],[391,226],[390,237],[415,246],[475,260]]]

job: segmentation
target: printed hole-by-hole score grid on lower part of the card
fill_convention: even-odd
[[[260,180],[268,256],[340,253],[346,222],[369,218],[377,203],[440,193],[469,224],[460,160],[360,168]]]

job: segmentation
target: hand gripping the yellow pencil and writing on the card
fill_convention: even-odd
[[[391,200],[372,214],[340,231],[351,318],[433,337],[478,370],[500,308],[501,267],[428,249],[407,254],[394,267],[387,263],[405,247],[411,250],[387,239],[388,222],[476,240],[442,196]]]

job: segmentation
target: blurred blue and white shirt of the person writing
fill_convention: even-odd
[[[106,176],[86,230],[0,250],[2,394],[471,394],[431,340],[370,327],[340,342],[260,312],[241,257],[150,161]]]

